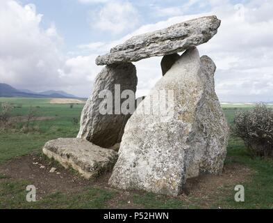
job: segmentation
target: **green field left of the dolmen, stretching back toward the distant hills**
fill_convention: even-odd
[[[0,164],[13,157],[26,155],[40,148],[49,140],[59,137],[75,137],[78,133],[78,124],[74,124],[73,118],[79,121],[83,105],[54,105],[49,99],[36,98],[0,98],[1,102],[10,102],[15,105],[13,116],[26,116],[30,107],[38,108],[38,116],[49,118],[43,121],[35,121],[32,125],[38,125],[40,131],[24,134],[19,131],[0,132]],[[16,107],[22,105],[22,108]]]

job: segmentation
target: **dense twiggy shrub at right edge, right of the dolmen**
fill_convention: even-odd
[[[273,109],[256,105],[236,113],[233,134],[245,141],[251,157],[273,157]]]

